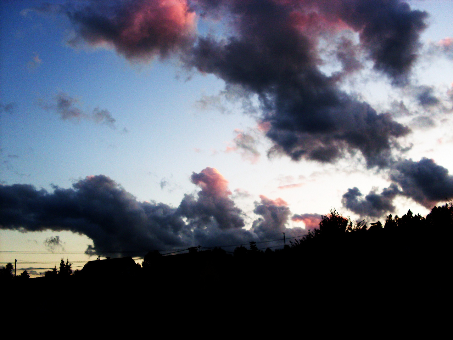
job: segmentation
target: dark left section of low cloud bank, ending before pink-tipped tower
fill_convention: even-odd
[[[174,208],[139,202],[104,175],[79,180],[53,193],[31,185],[0,186],[1,228],[21,231],[69,230],[93,240],[89,250],[149,250],[185,246],[185,223]]]

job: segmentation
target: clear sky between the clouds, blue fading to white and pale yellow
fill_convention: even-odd
[[[70,20],[60,13],[27,10],[41,3],[2,1],[0,5],[0,103],[2,108],[13,104],[11,110],[0,112],[2,185],[30,184],[52,192],[54,186],[70,188],[87,176],[106,175],[138,201],[178,207],[184,194],[196,196],[199,190],[191,182],[193,172],[211,167],[229,182],[230,198],[244,212],[246,229],[259,217],[253,210],[260,195],[283,199],[292,214],[327,214],[336,208],[352,219],[378,219],[347,209],[342,197],[353,187],[363,194],[381,192],[391,183],[391,170],[367,167],[360,152],[332,163],[294,161],[285,154],[269,158],[266,153],[273,142],[258,128],[262,109],[256,94],[250,97],[255,111],[246,111],[240,94],[225,92],[225,79],[188,69],[177,56],[131,61],[114,46],[70,46],[68,40],[77,34]],[[410,85],[391,85],[368,60],[341,87],[411,128],[412,133],[399,138],[403,148],[411,146],[405,159],[427,157],[452,170],[452,102],[447,96],[453,83],[452,54],[432,51],[439,41],[453,36],[453,5],[447,0],[408,3],[430,15],[429,27],[419,39],[423,46]],[[222,20],[197,17],[198,34],[227,36]],[[357,33],[346,34],[357,39]],[[331,55],[320,55],[325,73],[338,68],[330,63]],[[432,87],[450,108],[416,105],[413,92],[421,91],[420,86]],[[78,117],[62,119],[58,113],[56,100],[65,96],[73,101]],[[392,103],[400,100],[411,114],[392,111]],[[96,121],[96,110],[107,110],[114,123]],[[241,133],[253,137],[255,155],[235,144]],[[422,215],[429,212],[408,195],[396,197],[393,204],[393,214],[407,209]],[[286,227],[293,226],[304,224],[288,220]],[[83,252],[92,244],[87,236],[71,231],[24,233],[3,228],[0,250],[47,251],[45,240],[54,236],[62,242],[55,249]],[[14,261],[12,256],[2,253],[0,262]],[[60,254],[51,252],[17,256],[23,262],[45,261],[42,267],[53,267],[52,261],[57,264],[60,259]],[[94,259],[85,254],[61,256],[80,263]]]

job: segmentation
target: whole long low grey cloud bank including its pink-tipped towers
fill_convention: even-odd
[[[140,202],[105,175],[89,176],[70,189],[55,187],[53,192],[32,185],[0,185],[0,228],[72,231],[92,239],[87,252],[135,251],[129,255],[267,241],[281,238],[282,232],[288,237],[305,234],[301,228],[285,227],[290,212],[284,201],[264,196],[255,208],[260,219],[246,230],[245,215],[229,198],[228,182],[216,169],[193,173],[191,180],[201,190],[185,194],[177,208]],[[61,244],[56,238],[47,241],[49,247]]]

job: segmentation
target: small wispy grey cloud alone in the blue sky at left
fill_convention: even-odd
[[[79,100],[77,98],[69,96],[67,93],[58,92],[53,98],[51,103],[40,103],[40,106],[46,111],[54,111],[62,120],[74,120],[80,121],[81,119],[87,119],[94,121],[96,124],[109,126],[111,129],[116,129],[115,118],[112,117],[111,113],[106,110],[100,110],[96,107],[92,112],[87,113],[80,107],[77,107]],[[123,130],[127,132],[127,130]]]

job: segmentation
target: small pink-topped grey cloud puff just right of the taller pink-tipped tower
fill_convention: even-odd
[[[260,240],[275,240],[286,237],[304,235],[303,228],[287,228],[291,210],[283,199],[268,199],[260,195],[261,202],[255,202],[253,212],[261,217],[253,221],[252,230]]]

